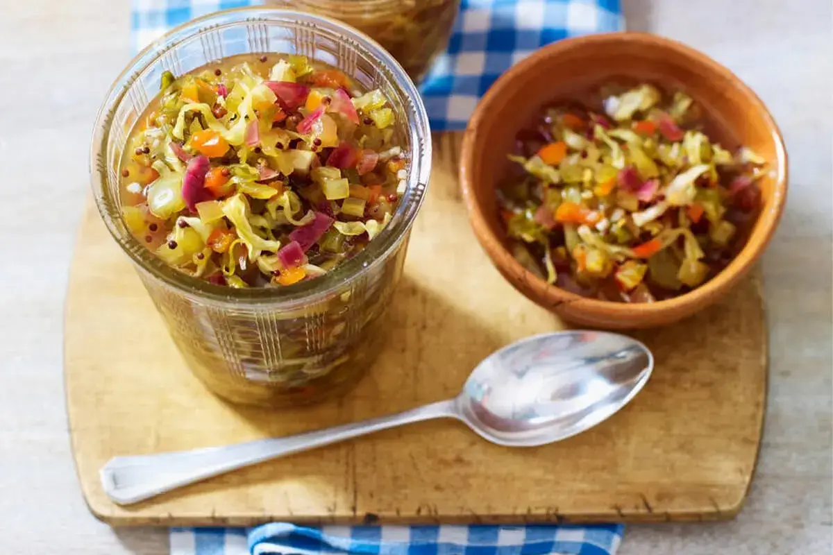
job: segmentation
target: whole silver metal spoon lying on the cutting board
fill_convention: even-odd
[[[625,406],[653,367],[651,351],[624,335],[577,330],[536,335],[483,360],[456,399],[285,438],[116,457],[102,467],[102,485],[115,503],[127,505],[272,458],[439,418],[461,420],[495,444],[551,444]]]

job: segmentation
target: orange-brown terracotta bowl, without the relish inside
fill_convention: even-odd
[[[507,250],[496,186],[506,175],[517,131],[552,102],[582,101],[611,82],[651,82],[701,103],[706,133],[724,146],[750,146],[771,169],[761,186],[761,215],[741,253],[696,290],[651,304],[581,297],[533,275]],[[711,305],[736,285],[766,248],[786,202],[787,159],[781,133],[761,100],[726,67],[680,42],[636,32],[570,38],[535,52],[486,92],[466,129],[460,181],[477,239],[509,282],[563,319],[608,329],[665,325]]]

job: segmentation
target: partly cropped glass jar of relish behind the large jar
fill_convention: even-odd
[[[460,0],[269,0],[278,6],[335,17],[397,58],[416,82],[443,52],[460,10]]]

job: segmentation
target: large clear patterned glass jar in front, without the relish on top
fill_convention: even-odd
[[[341,69],[368,90],[382,89],[407,153],[407,191],[384,230],[351,260],[292,287],[232,289],[185,275],[137,242],[122,220],[119,161],[162,72],[181,75],[247,53],[302,54]],[[431,170],[425,108],[390,54],[350,27],[309,13],[265,7],[215,12],[173,29],[130,63],[107,93],[91,150],[102,220],[209,389],[232,402],[276,406],[326,399],[357,383],[384,340],[382,317],[402,275]],[[126,341],[129,336],[125,330]]]

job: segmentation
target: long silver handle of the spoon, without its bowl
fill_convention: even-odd
[[[285,438],[259,439],[243,444],[172,453],[114,457],[102,467],[100,476],[107,496],[114,503],[128,505],[272,458],[335,444],[402,424],[439,418],[460,418],[456,399]]]

